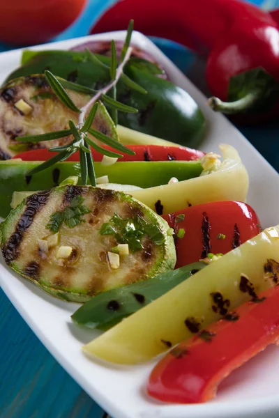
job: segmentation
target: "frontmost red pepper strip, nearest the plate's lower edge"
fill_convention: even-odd
[[[279,286],[258,297],[265,300],[246,302],[235,309],[239,320],[221,319],[207,327],[206,331],[216,334],[211,341],[196,334],[168,353],[151,372],[149,395],[165,402],[209,401],[229,373],[269,344],[278,343]]]

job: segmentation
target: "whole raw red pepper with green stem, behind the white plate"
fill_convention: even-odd
[[[125,29],[129,20],[147,35],[206,54],[210,105],[257,123],[279,113],[279,13],[239,0],[122,0],[92,33]],[[229,102],[224,102],[229,100]]]

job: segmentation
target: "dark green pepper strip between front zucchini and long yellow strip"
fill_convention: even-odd
[[[77,309],[71,318],[79,325],[107,330],[204,267],[205,263],[192,263],[140,283],[114,288],[93,297]]]

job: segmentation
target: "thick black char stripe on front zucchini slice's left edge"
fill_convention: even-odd
[[[7,264],[14,261],[20,255],[20,243],[24,238],[24,233],[32,224],[36,214],[40,212],[40,210],[47,203],[50,193],[50,190],[44,190],[42,192],[32,194],[27,199],[27,206],[15,226],[15,232],[10,235],[10,239],[6,245],[2,247],[3,258]]]

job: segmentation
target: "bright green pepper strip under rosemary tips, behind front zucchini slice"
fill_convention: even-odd
[[[59,162],[54,166],[27,176],[28,171],[41,162],[8,160],[0,161],[0,216],[10,212],[13,192],[47,190],[55,187],[69,176],[78,176],[76,162]],[[202,172],[199,161],[150,161],[116,162],[105,166],[95,164],[96,177],[108,176],[110,183],[129,184],[138,187],[153,187],[167,184],[170,178],[179,181],[198,177]],[[80,184],[80,183],[79,183]]]

